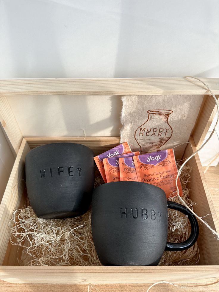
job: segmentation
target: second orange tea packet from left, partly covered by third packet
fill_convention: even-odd
[[[107,178],[107,182],[120,182],[120,172],[119,172],[119,157],[132,157],[139,155],[140,152],[132,152],[127,154],[122,154],[119,156],[104,158],[104,170]]]

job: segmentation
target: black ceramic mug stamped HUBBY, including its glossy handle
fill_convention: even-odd
[[[167,208],[188,216],[191,234],[186,241],[167,242]],[[167,201],[161,188],[143,182],[111,182],[94,189],[91,223],[96,252],[105,266],[155,266],[164,250],[191,247],[199,231],[187,208]]]

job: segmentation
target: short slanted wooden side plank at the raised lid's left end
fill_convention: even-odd
[[[16,157],[21,146],[23,135],[11,110],[6,96],[0,96],[0,123],[4,135]]]

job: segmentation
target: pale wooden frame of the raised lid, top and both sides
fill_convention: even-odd
[[[212,92],[219,93],[218,78],[201,78]],[[192,78],[37,78],[0,79],[0,124],[10,142],[14,155],[22,140],[22,133],[8,104],[7,96],[19,95],[208,95],[205,86]],[[209,96],[208,96],[209,97]],[[218,96],[217,96],[218,97]],[[209,128],[214,108],[212,97],[207,99],[193,131],[199,146]]]

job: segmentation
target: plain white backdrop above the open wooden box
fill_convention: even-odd
[[[3,0],[0,74],[218,76],[218,1],[178,2]]]

